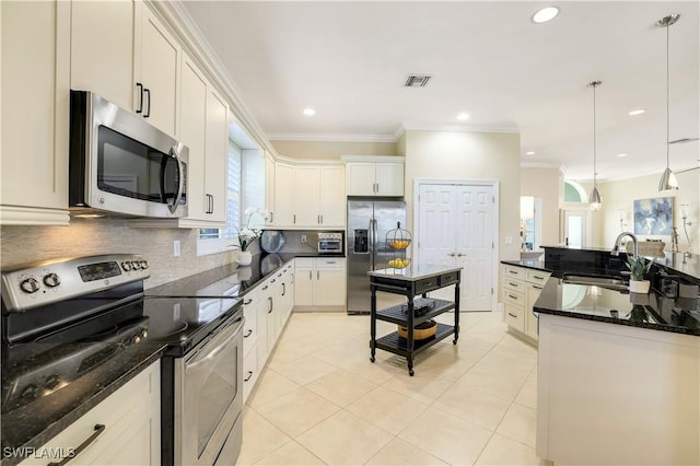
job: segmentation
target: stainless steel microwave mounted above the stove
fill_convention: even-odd
[[[120,217],[187,217],[189,149],[138,115],[70,92],[69,207]]]

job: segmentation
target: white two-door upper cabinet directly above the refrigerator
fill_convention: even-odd
[[[348,196],[404,196],[404,158],[343,156]]]

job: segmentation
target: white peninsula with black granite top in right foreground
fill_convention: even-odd
[[[550,278],[539,314],[537,454],[700,464],[700,307]]]

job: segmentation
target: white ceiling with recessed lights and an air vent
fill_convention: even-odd
[[[270,139],[395,140],[406,129],[521,135],[524,165],[598,179],[666,165],[666,28],[670,13],[669,140],[700,128],[700,2],[185,1]],[[404,88],[409,73],[433,79]],[[316,115],[302,115],[305,107]],[[628,112],[645,108],[630,117]],[[466,112],[466,123],[456,115]],[[534,155],[526,155],[535,151]],[[627,153],[627,158],[617,154]],[[700,165],[698,141],[672,144],[670,167]]]

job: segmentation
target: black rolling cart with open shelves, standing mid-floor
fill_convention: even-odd
[[[376,349],[393,352],[406,358],[409,375],[413,375],[413,357],[416,353],[425,350],[451,335],[454,335],[453,345],[457,343],[459,337],[459,280],[462,267],[445,266],[419,266],[397,269],[372,270],[370,276],[370,289],[372,291],[370,311],[370,348],[372,356],[370,360],[375,361]],[[455,286],[455,300],[444,301],[431,299],[431,305],[425,306],[421,313],[416,313],[415,296],[421,295],[423,303],[427,301],[427,293],[440,288]],[[398,304],[385,310],[376,308],[376,292],[402,294],[407,299],[406,304]],[[435,335],[416,340],[415,327],[431,318],[455,310],[454,325],[438,323]],[[420,315],[417,315],[420,314]],[[407,337],[401,338],[398,331],[385,335],[377,339],[376,321],[390,322],[407,328]]]

